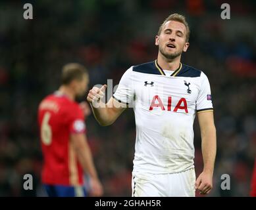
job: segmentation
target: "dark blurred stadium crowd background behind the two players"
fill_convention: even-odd
[[[34,20],[23,19],[24,3]],[[220,18],[229,3],[231,19]],[[0,196],[43,196],[36,114],[39,101],[59,86],[61,67],[80,62],[90,87],[157,56],[154,39],[170,13],[185,14],[190,48],[182,62],[211,82],[217,126],[214,188],[209,196],[249,196],[256,150],[255,1],[78,0],[0,2]],[[134,114],[128,110],[111,127],[88,117],[88,140],[104,196],[130,196]],[[195,121],[195,167],[201,172],[201,140]],[[23,175],[34,190],[22,190]],[[220,189],[228,174],[231,190]]]

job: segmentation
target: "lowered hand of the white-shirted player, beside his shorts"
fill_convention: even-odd
[[[200,194],[209,194],[213,188],[213,175],[210,172],[203,171],[195,182],[195,190],[199,190]]]

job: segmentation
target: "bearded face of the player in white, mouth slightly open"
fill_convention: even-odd
[[[155,45],[159,46],[159,52],[167,59],[174,59],[188,49],[186,33],[184,24],[170,20],[163,26],[160,35],[155,37]]]

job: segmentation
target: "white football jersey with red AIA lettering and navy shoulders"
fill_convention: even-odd
[[[213,111],[207,76],[180,63],[165,75],[157,60],[129,68],[113,98],[134,108],[134,172],[179,173],[193,168],[196,112]]]

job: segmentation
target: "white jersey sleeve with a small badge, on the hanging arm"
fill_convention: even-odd
[[[207,76],[201,72],[201,84],[199,95],[196,100],[196,110],[199,112],[213,111],[211,87]]]

